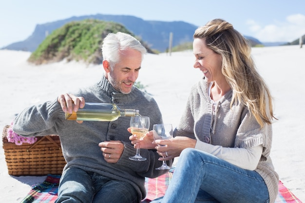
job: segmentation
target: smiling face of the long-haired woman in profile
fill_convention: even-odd
[[[194,68],[199,68],[208,82],[225,79],[221,71],[222,57],[206,46],[205,39],[194,39],[193,53],[196,57]]]

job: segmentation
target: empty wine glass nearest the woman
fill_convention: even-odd
[[[154,140],[168,140],[172,138],[172,124],[155,124],[152,128]],[[167,166],[166,161],[163,161],[162,166],[156,169],[171,169]]]

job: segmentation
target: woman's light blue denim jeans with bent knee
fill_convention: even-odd
[[[269,193],[256,171],[186,148],[165,196],[151,203],[269,203]]]

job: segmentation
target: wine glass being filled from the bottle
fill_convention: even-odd
[[[130,127],[133,135],[136,135],[137,139],[143,139],[149,129],[149,117],[148,116],[133,116],[130,119]],[[138,145],[139,146],[139,145]],[[140,155],[140,148],[136,149],[136,154],[129,157],[133,161],[145,161],[146,158]]]

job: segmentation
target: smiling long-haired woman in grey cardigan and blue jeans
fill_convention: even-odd
[[[154,142],[165,145],[155,147],[166,156],[160,160],[180,157],[165,196],[152,203],[273,203],[279,182],[269,156],[275,117],[251,48],[222,19],[193,37],[194,68],[204,78],[192,87],[174,138]]]

